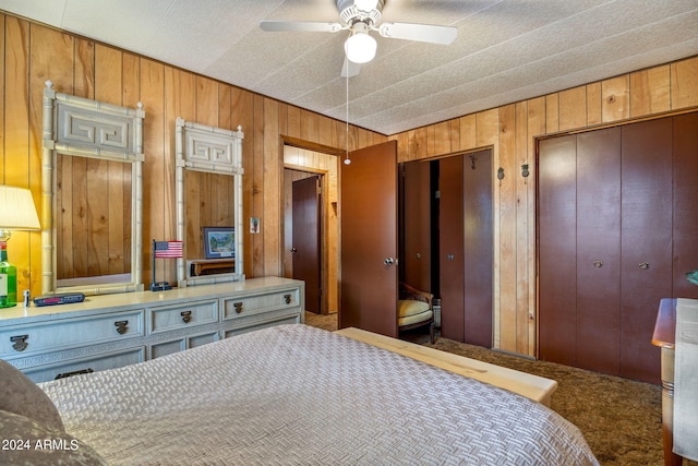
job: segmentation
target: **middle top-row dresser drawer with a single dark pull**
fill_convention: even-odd
[[[168,332],[218,322],[218,300],[148,309],[151,333]]]

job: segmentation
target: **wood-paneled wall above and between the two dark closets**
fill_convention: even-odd
[[[697,109],[698,58],[467,115],[390,136],[398,162],[491,146],[494,172],[494,346],[535,355],[537,139]],[[521,176],[529,165],[530,176]],[[698,201],[698,200],[696,200]],[[658,303],[648,303],[658,306]]]

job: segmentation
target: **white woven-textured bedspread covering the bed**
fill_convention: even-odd
[[[112,465],[598,464],[541,404],[302,324],[40,386]]]

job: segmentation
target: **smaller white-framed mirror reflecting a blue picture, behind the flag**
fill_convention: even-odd
[[[244,279],[242,128],[177,119],[178,286]]]

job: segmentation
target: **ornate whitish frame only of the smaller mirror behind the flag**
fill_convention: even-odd
[[[177,279],[179,287],[205,285],[221,282],[239,282],[244,279],[242,249],[242,127],[238,131],[214,128],[207,124],[185,121],[177,118],[177,239],[186,244],[186,206],[184,199],[184,170],[204,171],[208,174],[229,175],[233,177],[233,228],[234,228],[234,267],[232,273],[188,276],[186,254],[177,259]],[[184,248],[186,250],[186,248]]]

